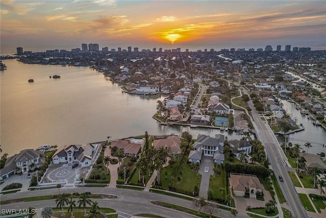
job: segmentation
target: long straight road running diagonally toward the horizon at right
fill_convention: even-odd
[[[246,90],[244,93],[248,94]],[[285,197],[286,203],[288,204],[292,217],[308,217],[306,210],[304,209],[294,185],[286,170],[286,157],[279,146],[279,142],[274,135],[273,131],[269,128],[268,124],[265,124],[263,120],[260,119],[259,114],[253,106],[252,101],[248,102],[249,106],[252,108],[252,115],[256,125],[256,131],[258,133],[259,140],[262,142],[266,149],[268,159],[270,161],[270,166],[274,170],[276,177],[279,175],[283,176],[284,182],[279,182],[282,189],[283,195]]]

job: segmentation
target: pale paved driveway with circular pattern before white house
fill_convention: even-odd
[[[67,183],[74,183],[76,176],[75,168],[71,168],[72,164],[64,164],[47,175],[47,178],[52,181],[67,180]]]

